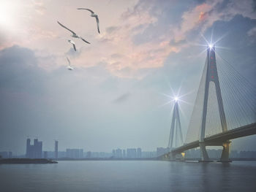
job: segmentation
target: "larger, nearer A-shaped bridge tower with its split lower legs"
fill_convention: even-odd
[[[206,151],[206,143],[204,142],[205,139],[205,133],[206,133],[206,116],[207,116],[207,107],[208,107],[208,97],[209,97],[209,85],[210,82],[214,83],[215,89],[216,89],[216,95],[217,95],[217,105],[219,110],[219,118],[220,123],[222,126],[222,132],[227,131],[227,122],[225,117],[225,111],[223,107],[223,101],[222,101],[222,93],[219,87],[219,76],[218,76],[218,70],[217,70],[217,64],[216,64],[216,56],[215,56],[215,45],[214,46],[208,46],[207,49],[207,58],[206,58],[206,84],[205,84],[205,92],[204,92],[204,98],[203,98],[203,115],[202,115],[202,122],[200,127],[200,136],[199,136],[199,142],[200,142],[200,153],[201,153],[201,159],[202,161],[209,161],[208,154]],[[213,144],[207,144],[212,146],[218,146],[222,145],[222,157],[221,161],[228,161],[229,158],[229,146],[230,141],[227,141],[225,143],[213,143]]]

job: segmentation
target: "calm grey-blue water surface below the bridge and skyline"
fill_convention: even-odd
[[[0,191],[256,191],[256,162],[4,164]]]

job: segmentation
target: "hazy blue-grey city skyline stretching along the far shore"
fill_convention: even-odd
[[[91,151],[84,150],[82,148],[70,148],[67,147],[65,150],[58,150],[59,141],[54,142],[52,150],[44,150],[42,141],[38,138],[34,139],[34,144],[32,145],[31,139],[26,139],[26,151],[22,154],[13,154],[12,151],[0,151],[1,158],[53,158],[53,159],[67,159],[72,158],[85,159],[85,158],[116,158],[116,159],[134,159],[134,158],[157,158],[161,155],[170,152],[170,147],[157,147],[153,151],[144,151],[140,147],[137,148],[127,148],[121,149],[116,148],[112,151]],[[56,151],[57,149],[57,151]],[[222,153],[222,147],[208,147],[209,157],[216,159]],[[57,154],[57,155],[56,155]],[[187,150],[185,158],[200,158],[200,148]],[[57,158],[56,158],[57,156]],[[59,157],[58,157],[59,156]],[[230,158],[241,158],[241,159],[254,159],[256,158],[256,150],[230,150]]]

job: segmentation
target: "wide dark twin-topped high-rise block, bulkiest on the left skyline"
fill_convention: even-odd
[[[34,139],[34,145],[30,142],[30,139],[26,139],[26,158],[42,158],[42,142],[38,139]]]

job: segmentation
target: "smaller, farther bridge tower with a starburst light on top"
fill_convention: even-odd
[[[174,138],[175,135],[175,138]],[[183,137],[182,137],[182,131],[181,131],[181,120],[179,117],[179,112],[178,112],[178,99],[175,99],[175,104],[173,107],[173,119],[172,123],[170,125],[170,137],[169,137],[169,142],[168,146],[170,150],[172,148],[178,147],[178,137],[179,137],[179,144],[183,145]],[[175,143],[174,143],[175,140]]]

